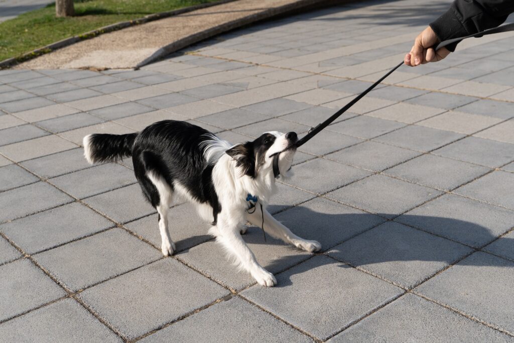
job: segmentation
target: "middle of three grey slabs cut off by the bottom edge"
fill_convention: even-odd
[[[233,328],[245,330],[233,330]],[[191,330],[191,328],[195,328]],[[266,330],[262,330],[266,328]],[[312,340],[256,306],[233,297],[180,320],[145,337],[141,342],[166,341],[173,337],[180,342],[252,341],[311,342]]]

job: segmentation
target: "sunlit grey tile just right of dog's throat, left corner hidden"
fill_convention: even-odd
[[[323,158],[307,161],[295,166],[292,170],[295,174],[290,180],[284,180],[286,184],[318,194],[326,193],[371,174],[368,171]],[[331,172],[327,173],[327,170]],[[321,175],[324,177],[320,177]]]

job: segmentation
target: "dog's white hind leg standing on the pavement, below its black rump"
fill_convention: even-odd
[[[161,234],[161,250],[164,256],[173,255],[175,251],[175,243],[171,240],[170,230],[168,228],[168,212],[172,201],[172,190],[170,185],[160,175],[149,172],[146,175],[157,189],[159,194],[158,202],[152,200],[157,213],[159,213],[159,231]],[[155,203],[155,204],[154,204]]]

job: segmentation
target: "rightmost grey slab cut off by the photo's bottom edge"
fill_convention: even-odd
[[[514,338],[431,301],[406,294],[329,340],[330,343],[356,341],[464,343],[512,342]]]

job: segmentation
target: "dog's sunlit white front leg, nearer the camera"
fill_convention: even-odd
[[[273,274],[264,269],[255,259],[253,252],[248,248],[241,237],[239,222],[232,222],[223,215],[218,216],[215,227],[216,241],[221,243],[228,254],[233,257],[238,267],[245,269],[262,286],[272,287],[277,284]]]

